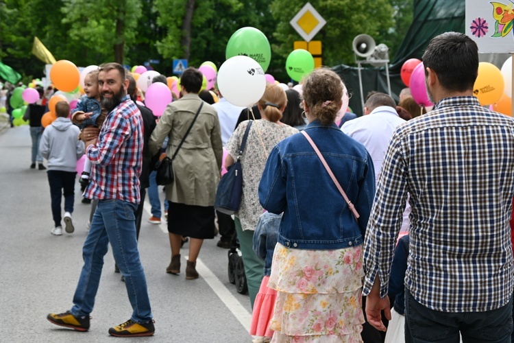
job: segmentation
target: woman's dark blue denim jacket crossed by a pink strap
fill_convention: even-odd
[[[335,123],[311,122],[305,131],[360,214],[352,215],[313,147],[302,134],[278,143],[259,185],[262,207],[284,213],[278,242],[287,248],[334,250],[363,243],[375,195],[373,162],[364,145]]]

